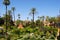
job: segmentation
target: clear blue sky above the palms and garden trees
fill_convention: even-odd
[[[32,19],[29,15],[31,8],[36,8],[37,13],[35,14],[35,20],[38,16],[57,16],[60,9],[60,0],[10,0],[8,10],[15,7],[15,16],[18,19],[18,13],[21,15],[21,20]],[[5,6],[3,0],[0,0],[0,16],[3,16],[5,12]]]

